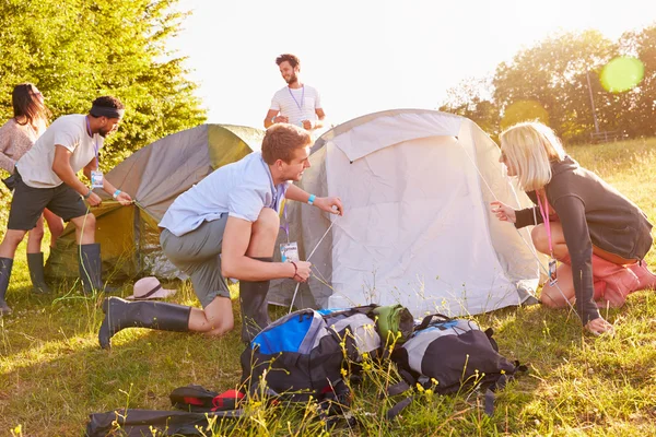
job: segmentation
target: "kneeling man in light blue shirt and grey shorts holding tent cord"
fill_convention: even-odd
[[[180,194],[160,222],[166,257],[187,273],[203,309],[109,297],[98,332],[104,349],[124,328],[195,331],[222,335],[234,327],[225,277],[239,280],[242,339],[250,341],[269,322],[272,279],[307,281],[311,263],[272,262],[283,199],[342,214],[337,197],[318,198],[293,185],[309,167],[309,133],[289,123],[267,130],[261,152],[218,168]]]

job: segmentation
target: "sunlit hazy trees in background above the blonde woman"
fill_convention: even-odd
[[[601,86],[604,66],[620,56],[644,66],[632,90],[613,93]],[[481,82],[485,86],[480,86]],[[628,32],[618,42],[597,31],[562,33],[519,51],[496,67],[490,84],[462,81],[447,92],[440,108],[468,117],[495,135],[516,122],[547,122],[565,141],[582,143],[595,131],[593,103],[600,131],[629,137],[656,134],[656,25]]]

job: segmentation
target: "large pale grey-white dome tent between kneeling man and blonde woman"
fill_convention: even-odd
[[[298,241],[313,276],[296,307],[400,304],[415,317],[480,314],[530,297],[540,265],[526,229],[491,213],[500,200],[529,204],[472,121],[432,110],[361,117],[319,138],[300,186],[339,196],[342,217],[290,202],[279,240]],[[332,227],[330,228],[330,226]],[[320,238],[326,238],[317,246]],[[290,305],[295,283],[269,300]]]

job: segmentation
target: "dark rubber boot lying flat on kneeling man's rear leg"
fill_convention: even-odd
[[[98,331],[103,349],[112,347],[112,336],[126,328],[150,328],[160,331],[189,331],[191,307],[165,302],[128,302],[112,296],[103,300],[105,319]]]

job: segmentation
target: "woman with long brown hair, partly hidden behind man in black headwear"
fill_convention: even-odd
[[[16,85],[12,93],[14,116],[0,127],[0,168],[10,175],[14,173],[14,165],[32,146],[37,138],[46,130],[50,111],[44,104],[44,96],[32,83]],[[4,179],[8,188],[12,189],[11,176]],[[45,210],[44,215],[30,231],[27,239],[27,265],[30,277],[35,292],[48,293],[49,288],[44,279],[44,253],[42,239],[44,237],[44,217],[50,229],[50,247],[63,232],[63,222],[60,217]],[[1,297],[0,297],[1,299]]]

